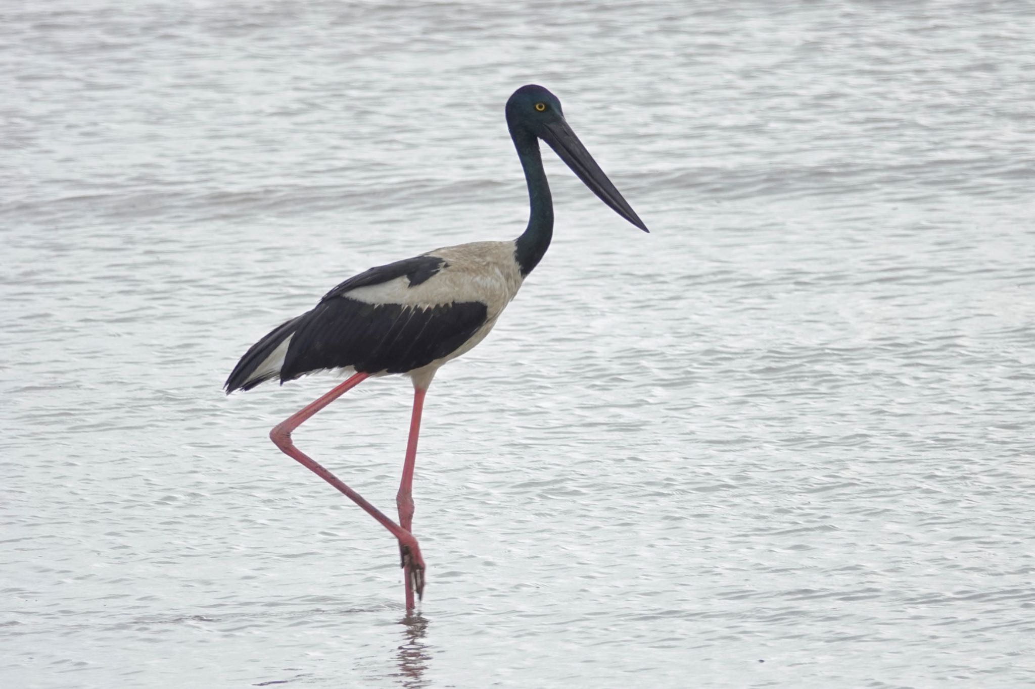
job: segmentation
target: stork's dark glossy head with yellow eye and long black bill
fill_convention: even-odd
[[[600,200],[640,229],[649,231],[564,121],[557,96],[541,86],[523,86],[507,100],[506,113],[507,126],[515,143],[522,136],[535,136],[546,142]]]

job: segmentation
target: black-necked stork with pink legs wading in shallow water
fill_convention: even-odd
[[[554,94],[541,86],[523,86],[507,100],[506,117],[525,169],[531,206],[528,226],[521,237],[436,249],[349,278],[327,292],[312,311],[283,323],[253,345],[225,385],[229,395],[272,378],[284,383],[317,371],[352,374],[275,426],[270,438],[398,539],[408,610],[413,608],[413,594],[422,596],[424,589],[424,561],[412,533],[411,491],[424,394],[439,367],[489,335],[550,246],[554,207],[538,139],[546,142],[604,203],[647,231],[571,131]],[[396,496],[397,524],[291,442],[292,431],[362,380],[395,373],[409,376],[414,387],[410,438]]]

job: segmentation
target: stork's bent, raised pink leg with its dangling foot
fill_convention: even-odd
[[[319,400],[303,408],[302,410],[292,414],[286,420],[277,424],[273,427],[273,430],[269,432],[270,439],[280,448],[288,457],[296,460],[303,467],[307,468],[313,473],[317,474],[325,481],[336,488],[338,491],[344,493],[350,500],[366,510],[366,513],[376,519],[381,525],[388,529],[395,538],[398,539],[400,551],[403,554],[403,566],[407,568],[407,572],[412,571],[407,577],[407,582],[413,583],[413,588],[417,591],[418,595],[423,595],[424,592],[424,560],[420,557],[420,547],[417,545],[417,539],[413,537],[413,534],[409,530],[404,529],[398,526],[390,519],[384,515],[381,510],[366,502],[363,496],[359,495],[351,488],[343,483],[338,478],[331,472],[324,469],[322,466],[314,462],[312,459],[306,457],[295,447],[294,443],[291,442],[291,432],[302,425],[305,419],[307,419],[313,414],[317,413],[328,404],[336,400],[337,398],[345,395],[347,392],[361,383],[363,380],[369,377],[368,373],[357,373],[344,383],[339,384],[337,387],[327,393]],[[405,475],[404,475],[405,479]],[[407,596],[408,606],[412,606],[410,603],[411,596]]]

